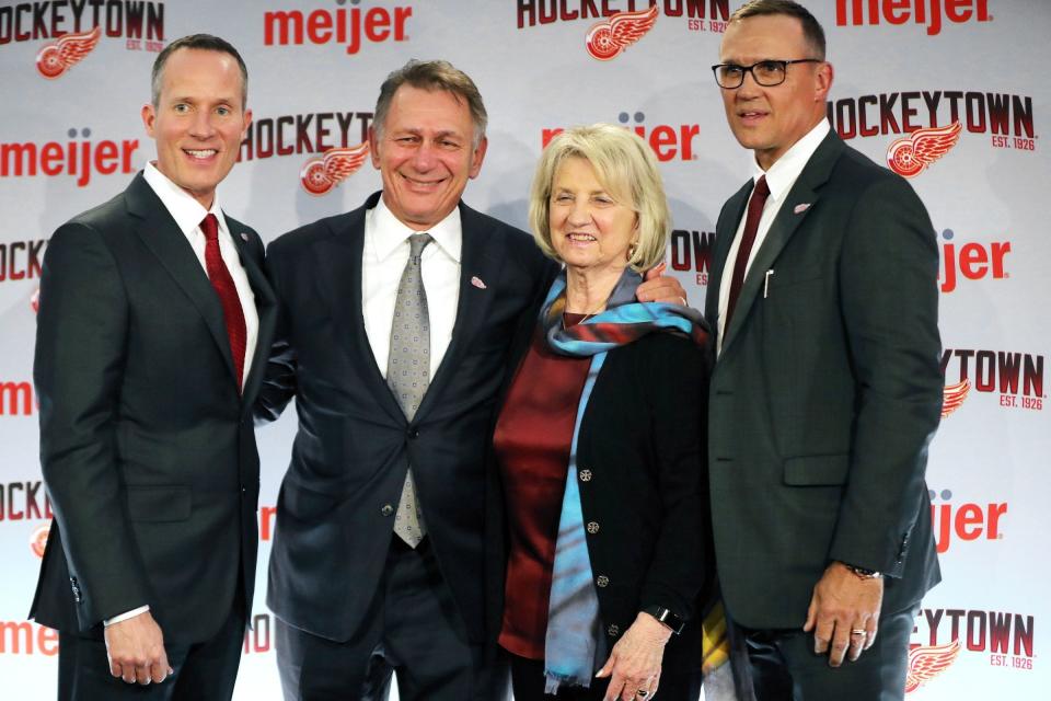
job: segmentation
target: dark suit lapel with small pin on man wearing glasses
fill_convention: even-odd
[[[810,157],[795,185],[788,191],[784,204],[777,211],[777,217],[771,225],[770,231],[766,232],[763,244],[757,251],[752,265],[748,268],[748,275],[741,286],[741,295],[737,299],[737,308],[734,310],[734,318],[730,320],[730,326],[724,333],[723,353],[726,353],[741,326],[747,323],[749,311],[765,285],[766,272],[774,269],[777,256],[781,255],[788,241],[798,231],[807,215],[817,206],[821,197],[820,188],[828,182],[832,168],[842,151],[843,141],[834,133],[829,133],[821,145],[818,146],[813,156]]]

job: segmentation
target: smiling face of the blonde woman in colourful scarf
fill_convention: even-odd
[[[584,158],[569,157],[555,171],[548,211],[551,245],[569,272],[620,277],[627,249],[638,240],[638,216],[619,204]]]

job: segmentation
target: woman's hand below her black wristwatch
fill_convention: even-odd
[[[657,693],[660,660],[669,637],[670,628],[649,613],[639,612],[596,675],[599,678],[612,675],[603,701],[649,701]]]

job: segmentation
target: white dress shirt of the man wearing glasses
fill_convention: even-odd
[[[792,186],[796,184],[796,181],[799,180],[802,169],[807,166],[810,157],[813,156],[813,152],[821,146],[821,141],[824,140],[829,129],[829,122],[821,119],[817,126],[810,129],[806,136],[796,141],[784,156],[777,159],[774,164],[770,166],[769,171],[763,171],[759,163],[754,159],[752,160],[752,183],[758,183],[760,177],[766,175],[766,185],[770,187],[770,195],[766,197],[765,205],[763,205],[763,215],[759,219],[755,241],[752,243],[752,250],[748,255],[748,263],[744,267],[746,278],[752,267],[752,261],[755,260],[755,254],[760,248],[762,248],[763,241],[766,240],[770,226],[774,222],[774,219],[777,218],[781,206],[785,204],[788,192],[792,189]],[[755,191],[753,188],[752,194],[754,193]],[[749,202],[751,202],[751,195],[749,196]],[[741,216],[741,221],[737,225],[737,233],[734,234],[734,243],[730,244],[730,251],[726,256],[726,265],[723,268],[723,277],[719,284],[719,353],[723,352],[723,336],[726,332],[724,322],[726,320],[726,308],[730,301],[730,280],[734,277],[737,251],[741,248],[741,237],[744,233],[744,222],[748,219],[747,206],[744,211],[746,215]]]

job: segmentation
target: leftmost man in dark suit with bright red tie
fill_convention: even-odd
[[[152,93],[157,161],[44,258],[55,524],[31,617],[59,630],[59,699],[229,699],[252,601],[251,407],[276,309],[259,237],[216,194],[251,122],[247,72],[229,43],[188,36],[158,56]]]

